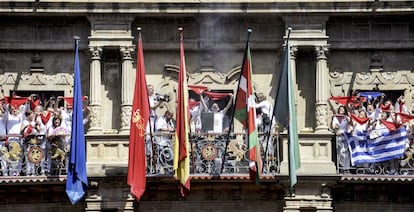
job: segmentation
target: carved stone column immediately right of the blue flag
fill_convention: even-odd
[[[88,134],[102,133],[102,99],[101,99],[101,55],[102,48],[90,46],[91,68],[90,68],[90,94],[89,107],[91,108],[90,128]]]

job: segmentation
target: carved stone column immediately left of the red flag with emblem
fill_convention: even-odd
[[[134,96],[135,73],[132,67],[131,53],[133,47],[121,47],[122,55],[122,88],[121,88],[121,129],[120,134],[128,134],[130,130],[132,100]]]

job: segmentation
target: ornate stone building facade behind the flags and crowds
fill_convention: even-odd
[[[1,95],[73,92],[73,36],[91,108],[87,128],[89,188],[70,205],[65,176],[0,177],[6,211],[412,211],[408,176],[338,172],[330,96],[382,90],[414,103],[414,3],[411,1],[83,1],[0,2]],[[188,84],[236,91],[247,29],[256,92],[274,101],[287,27],[295,73],[302,167],[288,192],[287,142],[279,171],[260,185],[243,177],[193,176],[182,198],[172,177],[148,177],[134,201],[126,184],[137,27],[147,82],[175,110],[179,33],[184,28]],[[285,136],[283,137],[285,138]]]

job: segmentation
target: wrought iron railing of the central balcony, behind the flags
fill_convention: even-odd
[[[171,133],[154,134],[152,143],[151,139],[147,140],[149,175],[173,174],[173,136]],[[276,137],[267,139],[265,134],[259,134],[259,142],[263,173],[279,173],[279,140]],[[190,146],[192,175],[248,173],[248,147],[244,134],[191,134]]]

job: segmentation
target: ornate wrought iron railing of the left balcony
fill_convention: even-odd
[[[7,135],[0,142],[1,176],[65,175],[69,135]]]

